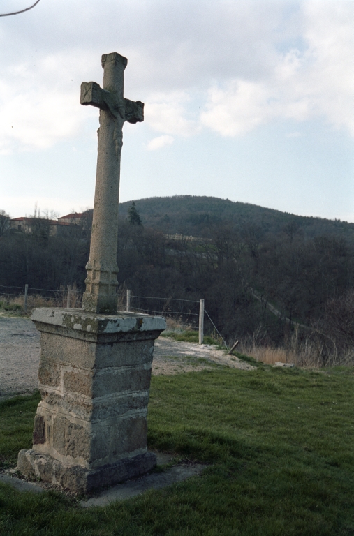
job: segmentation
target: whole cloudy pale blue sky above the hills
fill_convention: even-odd
[[[0,13],[33,0],[1,0]],[[128,58],[121,202],[212,195],[354,222],[354,0],[40,0],[0,17],[0,210],[94,204],[101,55]]]

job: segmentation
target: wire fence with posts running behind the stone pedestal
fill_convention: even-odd
[[[0,285],[0,308],[13,313],[29,314],[36,307],[80,308],[84,292],[73,285],[60,285],[59,289]],[[168,329],[193,329],[200,332],[200,300],[174,297],[133,295],[130,290],[118,292],[118,311],[163,315]],[[202,309],[206,331],[226,342],[207,310]],[[202,322],[203,325],[203,322]],[[202,327],[200,340],[204,335]],[[227,347],[227,345],[226,345]]]

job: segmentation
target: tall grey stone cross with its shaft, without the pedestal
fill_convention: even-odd
[[[94,219],[92,222],[84,311],[117,313],[118,198],[122,128],[124,121],[144,121],[144,104],[123,96],[128,60],[112,52],[103,54],[103,88],[82,82],[80,104],[100,109]]]

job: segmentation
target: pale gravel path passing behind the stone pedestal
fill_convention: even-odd
[[[39,357],[40,333],[34,323],[27,318],[0,316],[0,400],[37,389]],[[155,342],[153,375],[201,371],[216,365],[253,368],[212,345],[179,343],[165,337]]]

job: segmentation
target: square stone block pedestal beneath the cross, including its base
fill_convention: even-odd
[[[164,318],[73,308],[38,308],[31,318],[41,332],[42,401],[18,469],[82,493],[152,469],[147,403]]]

